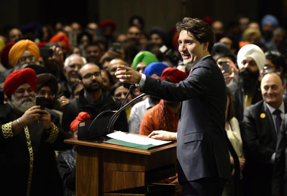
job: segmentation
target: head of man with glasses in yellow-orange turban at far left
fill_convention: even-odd
[[[9,51],[10,65],[18,69],[24,64],[36,63],[40,57],[40,50],[37,44],[31,40],[23,39],[16,42]]]

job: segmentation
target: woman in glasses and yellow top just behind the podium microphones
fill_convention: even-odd
[[[111,89],[111,95],[114,96],[116,99],[119,99],[121,103],[123,103],[123,100],[126,97],[126,94],[129,91],[129,87],[131,84],[128,83],[123,83],[123,82],[117,82],[115,83],[115,85],[112,87]],[[125,104],[127,104],[128,102],[130,102],[132,100],[132,94],[133,92],[131,91],[131,93],[129,94],[129,96],[127,97]],[[126,108],[126,118],[129,122],[129,114],[131,113],[131,109],[132,109],[132,105],[129,105]]]

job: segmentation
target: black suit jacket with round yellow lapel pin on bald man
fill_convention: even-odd
[[[284,102],[285,112],[287,103]],[[243,170],[246,195],[271,195],[277,131],[265,101],[247,107],[241,127],[246,165]]]

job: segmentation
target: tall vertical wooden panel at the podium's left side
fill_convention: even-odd
[[[100,150],[76,147],[76,196],[99,195]]]

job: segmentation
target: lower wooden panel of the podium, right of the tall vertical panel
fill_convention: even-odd
[[[144,172],[103,171],[103,192],[144,186]]]

